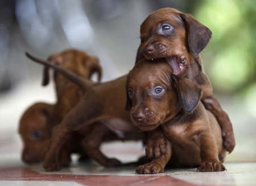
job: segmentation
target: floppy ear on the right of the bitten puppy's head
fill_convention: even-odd
[[[202,89],[187,78],[177,78],[172,75],[174,86],[180,98],[181,105],[187,113],[191,113],[200,101]]]

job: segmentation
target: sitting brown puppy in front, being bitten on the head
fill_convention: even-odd
[[[161,133],[162,127],[166,152],[136,172],[164,172],[169,160],[179,167],[200,166],[199,171],[226,170],[218,160],[218,155],[226,155],[221,129],[200,102],[201,88],[187,78],[172,75],[174,71],[165,60],[156,62],[142,59],[130,71],[126,110],[141,130]]]

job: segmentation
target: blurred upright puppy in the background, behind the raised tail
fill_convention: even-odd
[[[48,60],[50,63],[63,67],[68,71],[90,80],[93,73],[98,73],[98,81],[101,80],[102,69],[98,59],[90,56],[85,52],[76,49],[51,55]],[[49,69],[44,67],[43,85],[49,82]],[[60,122],[61,119],[80,101],[82,91],[79,86],[73,84],[60,73],[55,72],[54,81],[57,93],[56,117]]]

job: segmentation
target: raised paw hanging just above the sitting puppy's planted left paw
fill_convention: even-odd
[[[164,139],[148,141],[145,151],[149,159],[156,159],[166,153],[166,142]]]

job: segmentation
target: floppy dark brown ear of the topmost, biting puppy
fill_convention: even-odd
[[[188,46],[193,56],[199,55],[207,46],[212,32],[189,14],[180,14],[181,19],[187,26]]]

